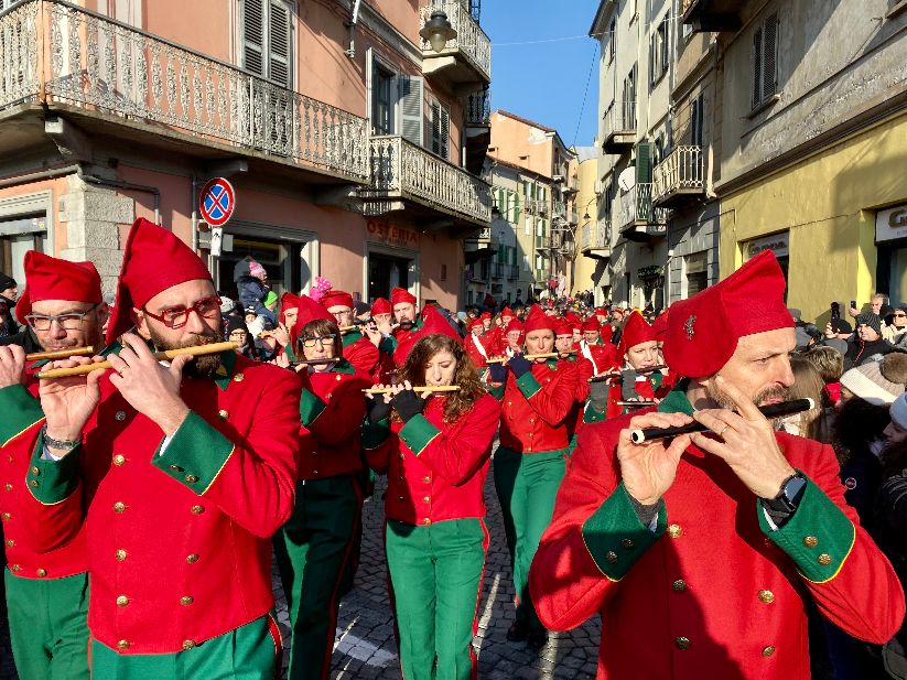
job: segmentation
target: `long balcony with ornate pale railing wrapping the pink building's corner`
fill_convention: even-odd
[[[0,153],[45,144],[33,121],[50,112],[130,148],[241,155],[295,182],[288,168],[315,183],[368,181],[363,118],[89,10],[23,2],[0,17],[0,117],[21,132]]]

